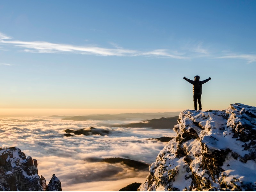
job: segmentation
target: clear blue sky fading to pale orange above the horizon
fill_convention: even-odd
[[[203,110],[255,106],[255,20],[255,1],[1,1],[0,108],[193,109],[196,75]]]

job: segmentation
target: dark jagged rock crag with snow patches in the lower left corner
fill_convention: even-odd
[[[61,185],[58,189],[61,191]],[[43,176],[40,178],[38,175],[36,159],[26,158],[16,147],[0,149],[0,191],[45,190],[46,182]]]

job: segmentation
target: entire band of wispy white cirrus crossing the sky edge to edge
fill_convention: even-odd
[[[57,44],[46,41],[19,41],[13,40],[11,36],[7,36],[0,33],[0,44],[6,47],[17,47],[23,52],[33,53],[76,53],[85,55],[99,55],[99,56],[145,56],[145,57],[161,57],[161,58],[172,58],[179,60],[189,60],[194,58],[207,57],[210,59],[241,59],[246,60],[249,63],[256,62],[256,54],[237,54],[237,53],[226,53],[223,52],[214,53],[210,52],[202,42],[188,41],[177,48],[177,50],[168,49],[154,49],[152,51],[139,51],[133,49],[124,49],[117,44],[110,43],[113,48],[103,48],[95,45],[71,45],[71,44]],[[6,48],[4,47],[4,48]],[[8,51],[7,49],[1,50]],[[9,64],[0,64],[9,65]]]

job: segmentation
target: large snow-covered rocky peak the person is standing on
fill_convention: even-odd
[[[256,107],[186,110],[140,191],[255,191]]]

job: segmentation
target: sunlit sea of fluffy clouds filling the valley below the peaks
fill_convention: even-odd
[[[47,181],[54,173],[63,191],[116,191],[132,182],[144,182],[148,171],[124,164],[100,162],[102,158],[122,157],[143,163],[155,162],[166,143],[149,138],[174,137],[171,129],[112,128],[127,121],[70,121],[61,117],[0,118],[1,147],[18,147],[38,161],[38,174]],[[65,137],[64,130],[95,127],[109,134]]]

